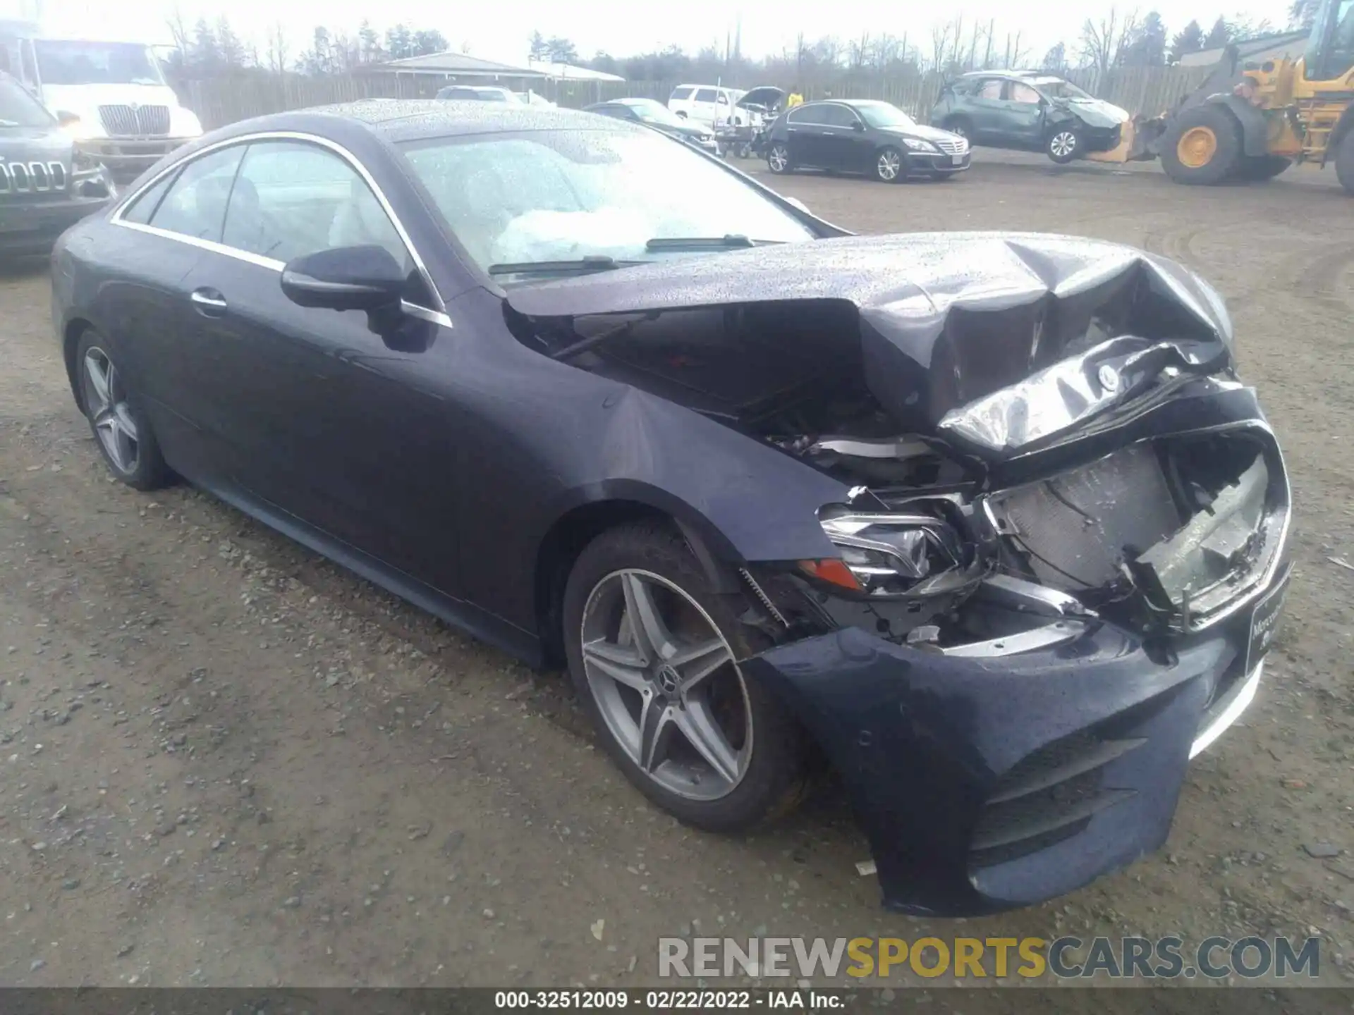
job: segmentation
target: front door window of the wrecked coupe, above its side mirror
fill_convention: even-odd
[[[375,245],[413,268],[394,223],[357,172],[333,152],[297,141],[249,146],[222,242],[275,261]]]

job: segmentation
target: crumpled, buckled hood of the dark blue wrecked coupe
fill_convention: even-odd
[[[701,309],[728,318],[770,306],[792,318],[796,302],[803,315],[833,304],[848,313],[814,337],[816,359],[798,340],[793,355],[777,355],[776,334],[737,349],[707,337],[704,355],[722,359],[704,374],[684,352],[645,363],[642,376],[677,401],[673,391],[735,386],[726,402],[764,409],[803,397],[825,363],[849,364],[900,430],[991,460],[1056,443],[1158,387],[1163,371],[1231,365],[1231,322],[1201,279],[1143,250],[1075,237],[841,237],[674,257],[523,286],[506,299],[533,328],[573,330],[590,348],[624,315]],[[630,346],[642,345],[638,334]]]

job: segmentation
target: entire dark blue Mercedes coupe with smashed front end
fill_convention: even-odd
[[[1288,479],[1155,256],[852,237],[650,130],[378,100],[168,156],[53,284],[114,476],[567,669],[693,826],[826,759],[891,907],[1158,847],[1261,679]]]

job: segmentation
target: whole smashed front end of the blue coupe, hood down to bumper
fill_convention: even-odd
[[[810,509],[831,568],[738,562],[779,641],[742,666],[831,758],[890,907],[1026,905],[1162,844],[1288,583],[1282,455],[1202,280],[1066,237],[852,237],[509,304],[547,355],[841,482]]]

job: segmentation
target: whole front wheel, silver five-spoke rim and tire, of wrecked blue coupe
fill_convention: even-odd
[[[799,725],[738,666],[768,647],[743,609],[651,522],[593,540],[565,589],[569,671],[604,747],[645,796],[709,831],[779,817],[806,786]]]

